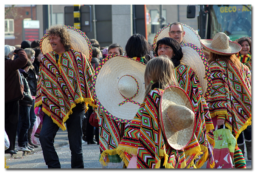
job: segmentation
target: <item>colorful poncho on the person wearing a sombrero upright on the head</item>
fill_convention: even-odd
[[[211,63],[212,92],[207,102],[211,116],[224,119],[237,139],[251,125],[251,74],[242,63],[240,70],[231,62],[229,66],[221,60]]]

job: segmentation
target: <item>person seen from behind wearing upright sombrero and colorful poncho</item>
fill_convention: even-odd
[[[210,52],[212,92],[208,98],[209,111],[216,125],[225,125],[238,139],[240,133],[251,125],[250,71],[239,61],[236,54],[241,45],[229,41],[223,32],[212,40],[201,40]],[[244,162],[236,160],[241,151],[236,145],[234,161],[236,168],[244,168]]]

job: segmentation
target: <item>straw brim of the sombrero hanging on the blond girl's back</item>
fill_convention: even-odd
[[[168,128],[172,126],[172,124],[170,123],[168,117],[166,116],[167,108],[169,107],[169,105],[172,105],[172,104],[186,106],[193,112],[194,112],[194,108],[192,107],[192,103],[189,97],[187,96],[187,94],[182,88],[171,86],[164,90],[163,95],[161,97],[161,101],[160,101],[160,107],[159,107],[160,108],[159,118],[160,118],[161,129],[169,145],[175,150],[181,150],[189,144],[189,142],[191,141],[194,135],[195,113],[194,113],[194,119],[193,119],[194,121],[190,127],[177,132],[173,132],[170,130],[170,128]]]

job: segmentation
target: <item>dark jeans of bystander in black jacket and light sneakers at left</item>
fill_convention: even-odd
[[[19,113],[19,133],[18,133],[18,146],[26,147],[29,143],[28,141],[28,130],[30,128],[30,106],[20,105]]]

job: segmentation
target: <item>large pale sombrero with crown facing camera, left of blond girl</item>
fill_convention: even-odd
[[[118,122],[131,122],[145,94],[146,65],[121,55],[105,57],[96,68],[93,93],[97,105]]]

